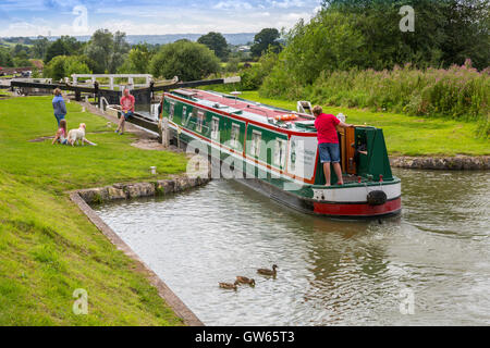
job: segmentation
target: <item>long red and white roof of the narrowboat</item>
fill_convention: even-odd
[[[210,90],[182,88],[171,91],[172,95],[187,99],[211,109],[225,113],[235,114],[250,121],[277,126],[278,129],[289,129],[294,132],[316,133],[311,115],[302,114],[296,111],[275,108],[250,101],[236,96],[221,94]],[[278,121],[277,116],[294,114],[297,117],[292,121]]]

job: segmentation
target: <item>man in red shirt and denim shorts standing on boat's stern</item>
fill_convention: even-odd
[[[330,186],[330,163],[333,164],[339,182],[336,185],[343,185],[342,169],[340,166],[340,147],[336,136],[338,127],[353,127],[352,124],[341,122],[332,114],[323,113],[321,107],[316,105],[313,110],[315,128],[317,128],[318,150],[320,152],[320,162],[323,165],[326,186]]]

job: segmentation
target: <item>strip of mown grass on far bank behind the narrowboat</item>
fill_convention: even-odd
[[[240,97],[265,104],[296,110],[296,101],[261,98],[257,91],[244,91]],[[490,154],[490,141],[475,137],[476,125],[474,123],[324,105],[323,111],[333,114],[342,112],[347,116],[347,123],[367,124],[382,128],[390,154]]]

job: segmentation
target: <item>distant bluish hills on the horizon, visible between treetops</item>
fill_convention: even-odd
[[[247,42],[254,41],[256,33],[237,33],[237,34],[223,34],[226,41],[231,45],[246,45]],[[131,45],[147,42],[150,45],[156,44],[170,44],[180,39],[188,39],[192,41],[197,41],[197,39],[204,34],[166,34],[166,35],[127,35],[127,42]],[[90,36],[75,36],[79,41],[88,41]],[[30,39],[36,39],[37,37],[30,37]],[[58,39],[59,36],[51,36],[51,40]],[[1,41],[1,38],[0,38]]]

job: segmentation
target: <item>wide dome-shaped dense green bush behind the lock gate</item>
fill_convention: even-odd
[[[181,80],[201,79],[219,70],[220,62],[209,48],[187,40],[162,46],[150,63],[154,76]]]

